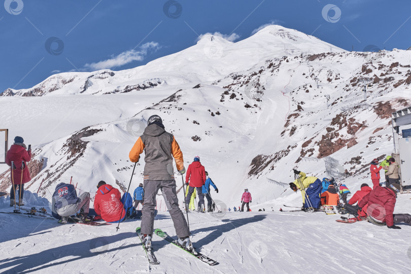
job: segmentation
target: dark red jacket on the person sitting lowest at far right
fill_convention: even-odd
[[[362,198],[358,205],[360,208],[368,205],[368,216],[380,222],[385,222],[387,226],[392,226],[394,225],[392,214],[396,201],[397,198],[395,197],[394,191],[385,187],[376,186]]]

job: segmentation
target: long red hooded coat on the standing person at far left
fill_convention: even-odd
[[[14,162],[16,169],[13,170],[13,177],[10,174],[10,180],[14,181],[15,185],[20,185],[29,182],[31,180],[30,172],[28,171],[27,162],[31,160],[31,150],[27,151],[25,148],[19,145],[12,145],[6,155],[6,163],[11,166],[11,162]],[[24,161],[25,168],[21,170],[21,162]],[[21,180],[21,173],[23,173],[23,180]]]

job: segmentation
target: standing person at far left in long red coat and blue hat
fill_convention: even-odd
[[[10,189],[10,207],[17,203],[15,200],[15,190],[17,190],[17,187],[19,188],[20,193],[18,204],[24,205],[24,184],[31,180],[30,172],[27,167],[27,162],[31,160],[31,145],[28,145],[28,149],[26,149],[23,138],[16,136],[16,138],[14,138],[14,144],[6,154],[7,165],[11,166],[11,162],[14,162],[16,167],[16,169],[12,168],[12,172],[10,173],[10,181],[12,182],[12,187]],[[24,164],[22,164],[22,162],[24,162]]]

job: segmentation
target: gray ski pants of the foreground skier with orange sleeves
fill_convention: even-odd
[[[161,192],[165,198],[165,204],[167,205],[168,212],[173,219],[177,236],[180,238],[189,236],[190,231],[188,230],[187,221],[179,207],[175,180],[144,181],[144,204],[143,216],[141,219],[141,233],[153,234],[154,210],[156,207],[156,195],[159,189],[161,189]]]

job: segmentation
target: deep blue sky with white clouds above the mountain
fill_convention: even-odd
[[[346,50],[411,46],[409,0],[0,1],[0,92],[57,72],[139,66],[207,32],[243,40],[269,23]]]

